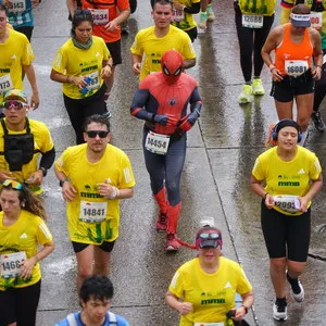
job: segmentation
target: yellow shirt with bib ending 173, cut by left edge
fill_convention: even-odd
[[[32,46],[27,37],[8,28],[9,37],[0,43],[0,103],[3,92],[10,89],[24,89],[22,66],[30,65],[34,60]]]

